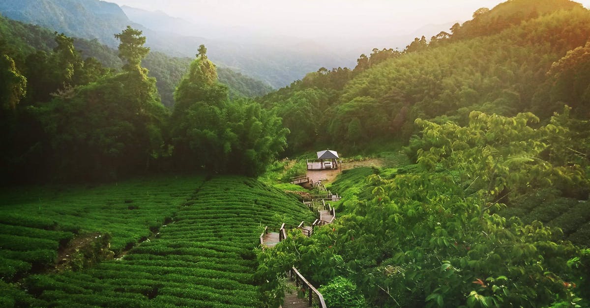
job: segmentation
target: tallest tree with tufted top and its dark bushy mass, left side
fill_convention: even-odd
[[[58,93],[36,109],[50,136],[55,176],[116,179],[146,171],[164,153],[168,110],[160,103],[156,80],[139,66],[148,49],[138,45],[145,41],[138,33],[127,28],[119,35],[126,71]],[[87,64],[89,78],[95,78],[91,71],[100,73],[99,65]]]

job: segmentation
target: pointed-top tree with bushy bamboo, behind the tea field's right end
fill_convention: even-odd
[[[175,93],[172,140],[182,168],[255,176],[285,147],[289,130],[252,101],[228,100],[204,45]]]

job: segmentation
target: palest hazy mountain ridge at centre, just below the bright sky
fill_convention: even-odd
[[[354,64],[353,57],[332,53],[317,42],[312,45],[295,39],[287,43],[280,37],[251,40],[241,32],[244,30],[237,28],[195,24],[161,11],[125,5],[122,9],[129,19],[148,29],[146,45],[175,57],[192,57],[198,46],[205,44],[209,58],[215,63],[266,81],[275,88],[287,86],[320,67]],[[162,35],[164,32],[166,35]]]

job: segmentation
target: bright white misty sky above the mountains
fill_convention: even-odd
[[[107,0],[160,10],[199,24],[248,28],[265,35],[314,38],[409,34],[428,24],[467,21],[500,0]],[[579,1],[586,8],[590,0]]]

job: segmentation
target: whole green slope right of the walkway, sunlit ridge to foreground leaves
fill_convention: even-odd
[[[328,306],[588,306],[589,26],[575,2],[507,1],[261,98],[293,153],[398,142],[415,163],[342,172],[336,223],[261,258]]]

